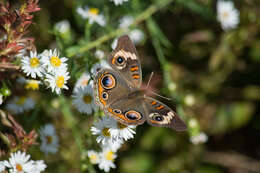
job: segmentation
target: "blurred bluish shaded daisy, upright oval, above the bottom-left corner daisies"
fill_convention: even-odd
[[[59,147],[59,138],[52,124],[46,124],[39,130],[41,138],[40,150],[45,154],[56,153]]]

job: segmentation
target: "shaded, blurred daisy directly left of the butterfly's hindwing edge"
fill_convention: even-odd
[[[72,97],[74,98],[72,104],[75,105],[81,113],[91,114],[92,110],[97,109],[91,85],[76,88]]]

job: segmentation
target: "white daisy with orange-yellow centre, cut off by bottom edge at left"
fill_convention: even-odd
[[[11,153],[9,161],[4,161],[6,168],[10,169],[11,173],[33,173],[34,161],[30,160],[30,155],[25,152],[18,151]]]

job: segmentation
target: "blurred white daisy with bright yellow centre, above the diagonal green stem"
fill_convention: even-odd
[[[83,9],[82,7],[78,7],[77,12],[81,15],[83,19],[88,19],[90,24],[96,22],[100,26],[106,25],[104,16],[102,14],[99,14],[99,9],[97,8],[89,8],[88,6],[85,6],[85,8]]]

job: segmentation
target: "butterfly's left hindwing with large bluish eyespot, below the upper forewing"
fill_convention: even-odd
[[[100,70],[94,78],[94,98],[103,110],[131,92],[129,85],[121,75],[112,69]]]

